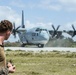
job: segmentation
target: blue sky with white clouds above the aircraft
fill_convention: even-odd
[[[0,21],[7,19],[18,27],[22,10],[26,29],[44,26],[52,30],[52,24],[60,25],[59,30],[73,30],[72,24],[76,28],[76,0],[0,0]],[[11,35],[8,40],[18,39]]]

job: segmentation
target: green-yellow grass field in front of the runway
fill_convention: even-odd
[[[16,72],[9,75],[76,75],[75,52],[5,52],[16,66]]]

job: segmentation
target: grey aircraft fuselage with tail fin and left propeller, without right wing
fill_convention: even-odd
[[[38,47],[44,47],[45,44],[49,41],[49,32],[47,29],[42,27],[35,27],[29,30],[26,30],[24,25],[24,12],[22,11],[22,26],[13,28],[13,35],[16,37],[18,33],[21,46],[25,45],[37,45]]]

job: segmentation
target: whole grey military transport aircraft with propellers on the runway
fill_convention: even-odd
[[[18,33],[21,46],[24,47],[25,45],[36,45],[38,47],[44,47],[46,43],[48,43],[49,39],[51,38],[60,38],[62,39],[64,36],[62,35],[63,32],[68,33],[72,37],[76,35],[76,30],[74,25],[72,25],[73,30],[63,30],[59,31],[60,25],[57,26],[57,28],[52,25],[53,30],[47,30],[43,27],[34,27],[29,30],[26,30],[24,25],[24,12],[22,10],[22,25],[15,27],[15,23],[13,23],[13,35],[16,37],[16,33]]]

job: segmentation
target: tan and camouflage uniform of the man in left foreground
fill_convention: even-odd
[[[6,58],[3,45],[0,45],[0,75],[8,75],[8,68],[6,67]]]

